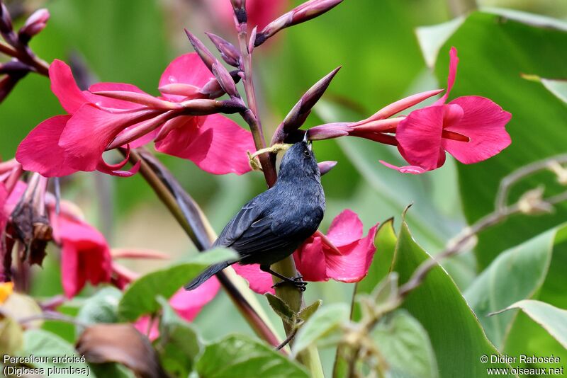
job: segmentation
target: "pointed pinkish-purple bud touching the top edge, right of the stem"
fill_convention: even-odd
[[[332,8],[335,8],[335,6],[337,6],[341,2],[342,0],[307,1],[266,25],[262,32],[258,33],[254,45],[262,45],[262,43],[264,43],[272,35],[278,33],[280,30],[318,17],[323,13],[330,11]]]

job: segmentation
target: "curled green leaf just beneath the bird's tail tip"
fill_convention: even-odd
[[[191,262],[177,263],[169,268],[144,275],[135,280],[124,292],[118,304],[118,316],[128,321],[135,321],[143,314],[152,314],[159,309],[157,296],[169,299],[209,265],[235,258],[235,252],[215,248],[197,255]]]

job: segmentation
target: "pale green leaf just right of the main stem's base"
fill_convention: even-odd
[[[349,307],[344,303],[335,303],[322,307],[299,328],[291,347],[292,355],[298,355],[309,345],[322,338],[330,338],[340,330],[340,326],[349,319]]]

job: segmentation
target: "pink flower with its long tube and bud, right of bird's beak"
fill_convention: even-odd
[[[413,110],[408,115],[393,115],[406,110],[439,91],[418,93],[379,110],[366,120],[313,127],[312,139],[352,135],[398,147],[408,166],[389,168],[403,173],[424,173],[445,162],[445,151],[463,164],[478,163],[505,149],[511,142],[505,125],[512,115],[493,101],[481,96],[463,96],[446,103],[459,62],[456,48],[450,51],[447,91],[433,105]]]

